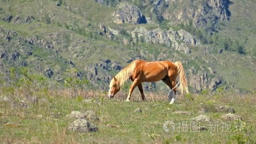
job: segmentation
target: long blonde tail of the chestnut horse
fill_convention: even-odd
[[[184,68],[181,62],[176,61],[174,64],[177,66],[176,85],[179,84],[179,86],[177,87],[177,90],[181,92],[181,95],[183,94],[184,91],[189,93],[188,86],[187,86],[187,79],[185,77]]]

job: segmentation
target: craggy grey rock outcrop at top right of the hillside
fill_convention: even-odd
[[[215,23],[219,19],[222,21],[229,20],[228,0],[197,1],[195,3],[187,1],[183,3],[192,6],[183,7],[181,4],[176,3],[174,11],[168,11],[166,8],[162,14],[163,18],[171,20],[173,24],[189,24],[192,22],[194,27],[206,26],[209,21]]]

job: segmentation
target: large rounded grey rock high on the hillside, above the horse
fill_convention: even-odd
[[[140,24],[142,23],[141,10],[136,6],[126,2],[117,5],[114,13],[112,13],[113,22],[116,24]]]

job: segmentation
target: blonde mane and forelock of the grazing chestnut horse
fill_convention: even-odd
[[[133,61],[131,64],[123,68],[116,76],[117,79],[117,87],[121,87],[127,80],[130,79],[133,70],[135,69],[136,63]],[[111,80],[109,86],[113,85],[114,78]]]

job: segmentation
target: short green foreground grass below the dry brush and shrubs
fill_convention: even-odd
[[[140,96],[135,92],[131,102],[124,102],[125,97],[116,96],[115,99],[108,99],[101,92],[98,92],[90,99],[99,100],[103,96],[103,103],[84,103],[75,98],[66,96],[52,96],[51,102],[40,105],[32,104],[29,108],[11,107],[10,104],[0,101],[0,141],[29,142],[35,143],[234,143],[245,141],[253,143],[256,137],[255,94],[247,96],[237,96],[232,93],[221,92],[219,98],[208,96],[207,94],[195,95],[190,101],[180,97],[176,104],[170,105],[167,96],[149,94],[147,102],[141,102]],[[162,99],[163,98],[163,99]],[[231,99],[232,98],[232,99]],[[153,100],[155,99],[155,100]],[[214,101],[216,105],[229,105],[235,109],[235,115],[243,117],[246,123],[244,130],[234,132],[232,125],[231,132],[179,132],[166,133],[163,131],[163,123],[172,120],[188,121],[190,118],[200,115],[198,109],[202,108],[200,102],[207,104],[207,101]],[[102,101],[101,101],[102,102]],[[142,113],[134,112],[136,108],[142,109]],[[67,127],[74,121],[66,115],[77,110],[86,112],[93,110],[99,117],[99,121],[93,122],[99,131],[88,133],[77,133],[67,131]],[[188,111],[192,115],[172,114],[174,111]],[[60,117],[51,117],[51,112],[60,112]],[[205,113],[211,120],[220,121],[221,115],[225,113],[211,111]],[[43,115],[43,118],[37,118]],[[20,123],[18,127],[4,125],[8,122]],[[231,122],[233,123],[233,122]],[[114,125],[113,128],[107,124]],[[208,127],[208,123],[201,123],[201,126]],[[150,137],[151,136],[151,137]],[[217,137],[218,139],[208,139]],[[241,138],[237,138],[241,137]],[[154,140],[153,140],[154,139]]]

